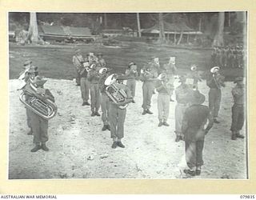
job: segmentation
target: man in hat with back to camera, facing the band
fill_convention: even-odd
[[[189,166],[189,169],[184,170],[184,173],[190,174],[191,176],[201,174],[201,166],[203,165],[202,150],[205,135],[214,124],[209,108],[201,105],[205,99],[205,96],[198,90],[193,91],[190,95],[190,107],[186,109],[182,120],[186,164]],[[209,123],[206,129],[204,129],[207,119]]]

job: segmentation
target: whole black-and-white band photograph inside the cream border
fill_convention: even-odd
[[[8,179],[250,178],[246,10],[6,14]]]

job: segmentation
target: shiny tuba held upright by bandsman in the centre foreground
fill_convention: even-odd
[[[127,98],[126,92],[122,90],[121,88],[118,88],[118,84],[116,83],[116,79],[114,76],[117,74],[111,74],[109,77],[105,80],[106,85],[106,95],[114,102],[124,102]],[[118,106],[120,109],[125,109],[128,106],[126,104],[125,106]]]

